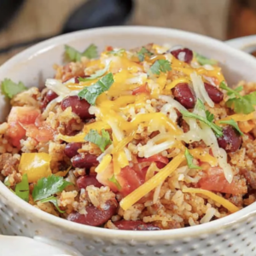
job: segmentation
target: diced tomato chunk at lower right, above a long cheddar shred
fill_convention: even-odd
[[[198,186],[201,189],[232,195],[245,194],[247,190],[246,186],[242,186],[241,183],[237,183],[235,180],[229,183],[224,177],[223,170],[219,167],[209,168],[199,181]]]

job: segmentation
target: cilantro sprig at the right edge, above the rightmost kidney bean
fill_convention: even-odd
[[[226,102],[228,108],[233,108],[236,113],[252,113],[254,111],[254,106],[256,105],[256,91],[246,95],[241,96],[240,91],[242,87],[239,86],[235,90],[221,82],[219,87],[223,90],[228,91],[229,100]]]

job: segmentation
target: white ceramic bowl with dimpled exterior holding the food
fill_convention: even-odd
[[[0,80],[10,78],[27,86],[44,84],[61,63],[64,44],[84,49],[94,43],[133,48],[148,44],[184,45],[223,63],[229,84],[256,81],[256,59],[240,50],[204,36],[155,27],[119,26],[74,32],[26,49],[0,67]],[[0,120],[8,105],[0,99]],[[179,230],[106,230],[68,222],[20,200],[0,183],[0,231],[5,235],[43,236],[76,247],[84,255],[256,255],[256,204],[228,217]],[[29,250],[29,248],[28,248]]]

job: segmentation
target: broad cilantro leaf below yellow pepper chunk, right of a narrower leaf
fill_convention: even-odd
[[[70,184],[72,183],[67,182],[60,176],[51,175],[49,177],[42,177],[34,186],[32,197],[34,201],[45,199],[57,192],[63,191]]]

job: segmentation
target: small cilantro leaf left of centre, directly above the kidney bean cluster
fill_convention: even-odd
[[[101,148],[102,152],[105,151],[105,148],[108,145],[112,144],[108,131],[105,131],[104,129],[102,129],[102,135],[100,135],[98,131],[91,129],[84,137],[84,140],[96,144],[99,148]]]

